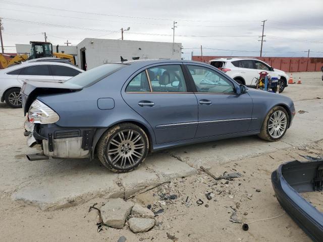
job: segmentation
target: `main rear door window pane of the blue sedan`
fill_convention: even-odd
[[[187,92],[180,65],[165,65],[147,69],[153,92]]]

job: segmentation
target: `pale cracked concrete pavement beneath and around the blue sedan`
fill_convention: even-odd
[[[294,100],[297,114],[281,141],[268,143],[252,136],[183,146],[151,154],[137,170],[122,174],[87,159],[28,161],[25,154],[39,150],[26,146],[22,110],[0,103],[2,198],[41,210],[62,209],[94,198],[127,198],[148,186],[196,174],[200,165],[212,168],[277,150],[306,149],[323,140],[323,81],[320,72],[293,73],[293,77],[295,81],[301,77],[303,84],[289,85],[283,92]],[[1,209],[6,210],[4,206]]]

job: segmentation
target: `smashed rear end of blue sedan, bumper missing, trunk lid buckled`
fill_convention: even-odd
[[[56,123],[60,115],[49,105],[41,101],[42,96],[59,95],[81,91],[82,87],[75,84],[40,82],[24,83],[21,93],[25,121],[27,145],[41,145],[42,156],[57,158],[86,158],[89,157],[89,142],[93,129],[64,128]],[[38,156],[27,156],[36,160]]]

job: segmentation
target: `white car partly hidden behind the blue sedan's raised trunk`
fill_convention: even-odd
[[[77,67],[59,62],[30,62],[0,70],[1,101],[14,108],[22,106],[20,89],[24,82],[65,82],[84,72]]]

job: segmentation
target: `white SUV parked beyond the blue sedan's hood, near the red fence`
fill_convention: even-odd
[[[279,92],[283,92],[285,87],[288,86],[289,77],[285,72],[274,69],[257,58],[217,58],[211,59],[208,64],[220,69],[236,82],[248,87],[255,87],[260,72],[267,72],[269,76],[278,78]]]

